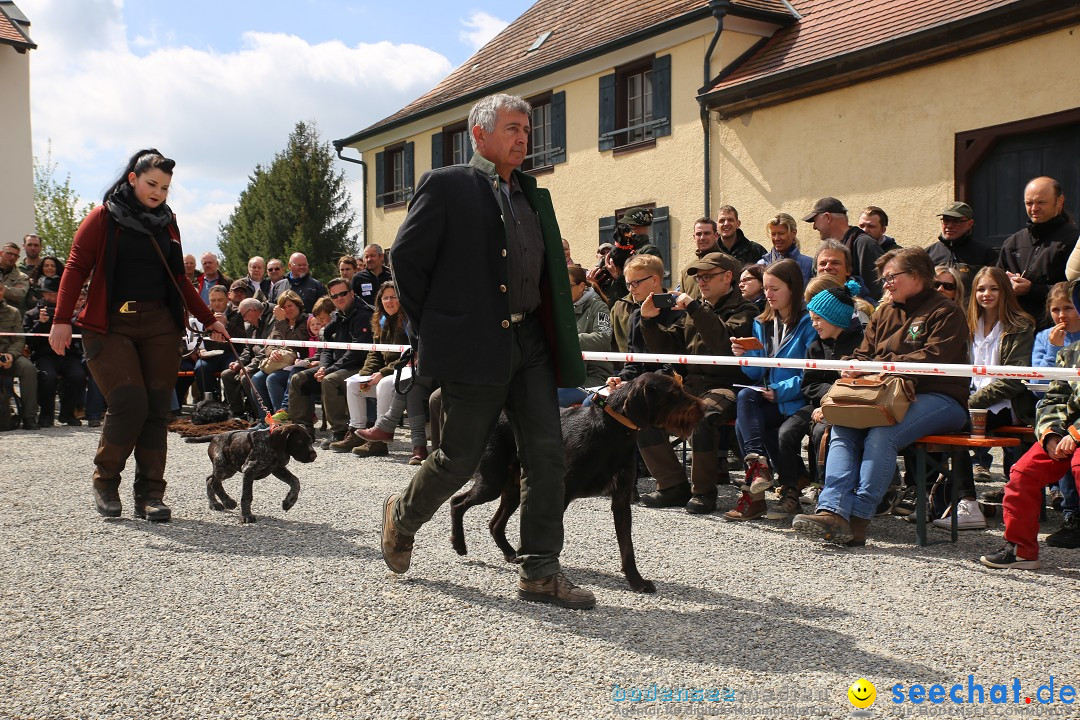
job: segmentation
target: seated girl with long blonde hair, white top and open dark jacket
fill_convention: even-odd
[[[968,323],[971,327],[971,362],[975,365],[1027,367],[1031,364],[1035,318],[1021,309],[1003,270],[988,266],[975,273],[968,302]],[[968,407],[987,410],[987,430],[1035,423],[1035,395],[1018,378],[976,376],[971,379],[971,391]],[[1014,452],[1012,448],[1004,448],[1003,451],[1007,457]],[[969,480],[964,474],[957,505],[957,522],[961,529],[986,527],[986,519],[975,501],[974,481],[988,481],[989,468],[989,450],[976,450],[973,478]],[[950,527],[948,517],[939,518],[934,524]]]

